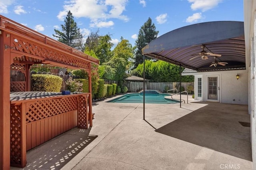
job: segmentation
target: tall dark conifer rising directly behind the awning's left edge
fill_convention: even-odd
[[[145,45],[150,43],[152,40],[156,39],[158,32],[159,31],[156,31],[155,24],[152,23],[151,18],[148,18],[148,20],[140,28],[138,39],[135,41],[135,45],[137,47],[134,62],[135,68],[138,66],[138,64],[143,63],[143,55],[141,54],[142,48],[145,47]]]

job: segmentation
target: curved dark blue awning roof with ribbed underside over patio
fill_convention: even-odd
[[[210,67],[214,56],[207,55],[205,60],[196,57],[202,46],[207,53],[221,55],[216,61],[228,64]],[[181,27],[154,39],[142,54],[198,71],[245,69],[244,22],[213,21]]]

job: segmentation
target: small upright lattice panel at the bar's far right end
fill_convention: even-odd
[[[88,128],[88,96],[78,96],[78,128]]]

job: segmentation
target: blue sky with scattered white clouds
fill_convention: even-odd
[[[69,10],[84,39],[99,30],[114,46],[121,37],[134,46],[149,17],[158,37],[201,22],[244,21],[243,0],[0,0],[0,15],[53,39]]]

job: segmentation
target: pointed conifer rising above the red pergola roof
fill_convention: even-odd
[[[62,31],[54,29],[56,35],[53,34],[53,36],[58,38],[58,41],[82,51],[83,35],[80,33],[80,29],[76,26],[76,22],[74,21],[74,17],[70,11],[68,11],[64,22],[64,25],[61,24]]]

